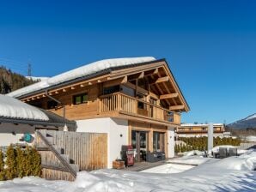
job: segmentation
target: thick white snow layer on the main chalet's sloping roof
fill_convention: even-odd
[[[93,75],[106,69],[128,66],[136,63],[145,63],[154,60],[155,57],[128,57],[105,59],[94,63],[86,64],[80,68],[72,69],[60,75],[53,76],[46,81],[40,81],[38,83],[34,83],[33,85],[23,87],[21,89],[15,90],[14,92],[8,93],[8,95],[17,98],[21,97],[22,95],[26,95],[27,93],[40,91],[41,89],[52,87],[66,81],[75,80],[76,78],[80,78],[86,75]]]

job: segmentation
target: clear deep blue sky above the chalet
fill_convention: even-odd
[[[256,112],[255,1],[0,1],[0,64],[52,76],[112,57],[166,58],[186,123]],[[9,59],[9,61],[7,61]]]

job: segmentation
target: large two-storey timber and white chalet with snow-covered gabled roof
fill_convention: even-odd
[[[132,145],[136,160],[147,153],[174,157],[174,129],[189,111],[165,59],[106,59],[84,65],[9,96],[75,120],[77,132],[107,133],[107,166]]]

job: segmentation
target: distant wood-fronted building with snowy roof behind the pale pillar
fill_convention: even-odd
[[[194,137],[194,136],[207,136],[209,124],[196,124],[196,123],[183,123],[176,129],[176,136],[180,137]],[[225,132],[223,123],[213,124],[213,136],[223,137]]]

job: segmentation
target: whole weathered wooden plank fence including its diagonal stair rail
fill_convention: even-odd
[[[107,168],[107,134],[39,130],[34,146],[46,179],[72,181],[77,171]]]

